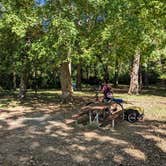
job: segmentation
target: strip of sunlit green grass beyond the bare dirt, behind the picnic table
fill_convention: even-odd
[[[10,109],[11,107],[20,106],[20,101],[17,99],[17,93],[3,93],[0,96],[0,108]],[[22,103],[26,103],[24,107],[33,106],[35,104],[42,104],[49,106],[50,104],[58,104],[60,103],[60,91],[56,90],[39,90],[37,95],[35,95],[34,91],[28,91],[27,99]],[[165,91],[161,91],[160,95],[154,95],[154,93],[150,94],[141,94],[141,95],[128,95],[127,93],[116,93],[114,94],[115,98],[122,98],[126,101],[133,103],[135,106],[143,107],[145,111],[145,118],[148,119],[157,119],[164,120],[166,119],[166,97]],[[100,97],[102,94],[99,95]],[[74,98],[77,100],[82,100],[84,102],[88,102],[90,100],[95,100],[95,92],[74,92]],[[73,103],[74,104],[74,103]],[[124,107],[128,107],[130,105],[124,105]]]

